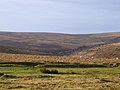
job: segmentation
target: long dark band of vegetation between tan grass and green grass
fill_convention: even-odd
[[[105,68],[105,67],[119,67],[120,63],[64,63],[64,62],[0,62],[0,67],[16,67],[16,66],[35,66],[41,68]],[[46,69],[45,69],[46,70]]]

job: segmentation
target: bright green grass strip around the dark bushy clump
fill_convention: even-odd
[[[40,69],[44,67],[36,66],[17,66],[0,67],[0,72],[5,74],[41,74]],[[48,67],[49,70],[58,70],[61,73],[73,71],[78,74],[120,74],[120,68],[55,68]]]

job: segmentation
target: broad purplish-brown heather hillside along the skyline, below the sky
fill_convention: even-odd
[[[99,45],[120,42],[120,32],[101,34],[60,34],[0,32],[0,52],[70,55]]]

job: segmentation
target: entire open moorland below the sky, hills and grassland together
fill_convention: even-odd
[[[119,36],[0,32],[0,90],[120,90]]]

